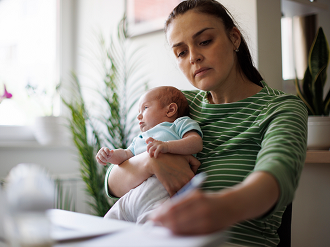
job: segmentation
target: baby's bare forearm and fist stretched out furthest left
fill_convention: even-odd
[[[102,147],[96,154],[96,161],[98,164],[105,166],[106,163],[119,165],[125,160],[133,157],[132,152],[129,149],[113,149],[110,150],[106,147]]]

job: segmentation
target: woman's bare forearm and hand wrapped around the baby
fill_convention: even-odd
[[[190,165],[199,165],[192,155],[160,153],[150,158],[147,152],[136,155],[118,166],[113,166],[108,176],[109,194],[122,197],[129,190],[155,175],[170,196],[174,195],[193,176]]]

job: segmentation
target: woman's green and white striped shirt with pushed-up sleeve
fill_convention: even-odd
[[[307,110],[294,95],[264,86],[246,99],[210,104],[204,91],[183,91],[190,117],[203,132],[198,172],[206,172],[205,190],[242,182],[253,171],[272,174],[280,198],[266,216],[234,225],[229,242],[238,246],[275,247],[277,228],[294,191],[306,154]]]

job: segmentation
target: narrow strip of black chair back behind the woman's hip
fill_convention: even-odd
[[[279,244],[277,247],[291,247],[291,219],[292,219],[292,203],[286,206],[282,215],[282,223],[277,229],[279,236]]]

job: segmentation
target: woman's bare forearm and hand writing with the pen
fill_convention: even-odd
[[[151,220],[175,234],[206,234],[264,215],[274,207],[278,197],[276,179],[266,172],[254,172],[242,183],[220,193],[196,190],[177,203],[168,201]]]

